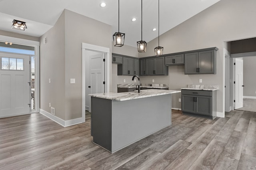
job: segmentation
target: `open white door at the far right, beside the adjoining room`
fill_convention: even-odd
[[[243,59],[235,59],[235,109],[243,107]]]

